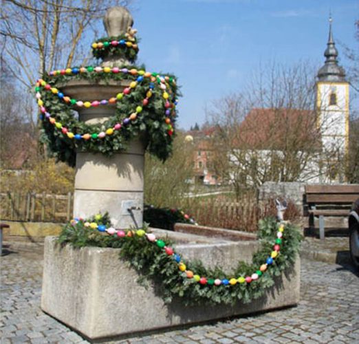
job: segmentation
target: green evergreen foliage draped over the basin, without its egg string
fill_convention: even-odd
[[[106,221],[104,219],[93,220],[101,224],[109,222],[108,219]],[[278,222],[274,217],[261,220],[258,232],[258,239],[261,243],[260,250],[254,254],[252,264],[239,261],[237,268],[230,275],[219,267],[204,268],[201,261],[182,261],[198,275],[206,277],[228,278],[228,276],[238,277],[251,274],[268,258],[276,240],[277,229]],[[58,242],[63,245],[71,244],[75,248],[85,246],[120,248],[120,257],[127,259],[131,266],[142,275],[139,281],[151,279],[158,286],[166,303],[179,297],[185,305],[235,304],[237,301],[249,303],[261,297],[267,288],[274,285],[274,277],[281,276],[285,269],[293,266],[301,242],[298,228],[292,224],[285,224],[280,253],[259,279],[252,283],[237,283],[235,286],[210,286],[208,284],[201,285],[194,279],[186,278],[186,274],[179,271],[175,260],[168,257],[162,248],[149,242],[144,236],[139,237],[134,233],[129,231],[128,235],[123,238],[103,235],[97,230],[84,226],[84,222],[80,221],[67,224],[58,238]],[[168,240],[164,240],[164,242],[166,246],[171,244]]]

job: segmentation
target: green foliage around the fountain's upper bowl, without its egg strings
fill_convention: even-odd
[[[135,68],[133,66],[124,66],[128,69]],[[143,67],[143,66],[142,66]],[[87,67],[88,69],[89,67]],[[76,68],[74,68],[76,69]],[[79,68],[77,68],[79,69]],[[144,69],[144,68],[139,68]],[[153,75],[157,76],[157,73]],[[169,76],[171,82],[168,83],[168,94],[170,95],[171,103],[174,103],[178,94],[177,86],[172,81],[173,76]],[[66,85],[69,80],[82,79],[91,80],[91,83],[107,83],[109,80],[114,81],[135,81],[138,76],[130,73],[113,74],[113,73],[96,73],[93,68],[91,72],[78,73],[73,75],[58,75],[56,77],[44,76],[45,83],[61,89],[62,85]],[[129,116],[135,107],[141,104],[144,95],[151,84],[150,78],[144,78],[141,83],[133,89],[131,94],[122,98],[116,103],[115,115],[106,122],[97,125],[87,125],[85,122],[79,121],[74,117],[74,108],[72,104],[64,103],[52,92],[49,92],[41,87],[36,87],[41,94],[44,107],[47,111],[56,118],[57,122],[71,128],[74,133],[92,133],[100,132],[105,128],[113,127],[116,122],[121,122],[124,118]],[[74,140],[64,135],[61,130],[58,130],[52,125],[45,116],[42,116],[42,130],[41,142],[47,144],[50,153],[58,160],[67,162],[69,166],[75,165],[76,151],[93,151],[103,153],[105,155],[112,155],[114,152],[124,151],[127,149],[127,144],[135,137],[141,138],[147,149],[153,155],[161,160],[166,160],[172,151],[173,136],[168,135],[168,125],[166,124],[164,98],[162,97],[162,90],[160,87],[152,89],[153,96],[150,98],[148,105],[143,107],[140,116],[136,120],[132,120],[129,125],[122,125],[119,131],[115,131],[113,135],[105,138],[98,138],[96,140]],[[113,95],[116,97],[116,94]],[[106,105],[104,105],[106,106]],[[177,114],[173,111],[171,122],[174,124]]]

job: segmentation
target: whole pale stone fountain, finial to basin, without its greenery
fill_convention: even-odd
[[[122,34],[132,23],[131,14],[123,8],[112,8],[105,17],[109,36]],[[123,63],[126,63],[123,59],[107,58],[103,65]],[[61,89],[73,98],[91,101],[110,98],[128,84],[72,80]],[[111,105],[78,108],[80,120],[90,123],[105,121],[113,111],[115,107]],[[115,152],[110,158],[100,153],[78,152],[74,215],[86,218],[98,211],[109,211],[116,228],[141,227],[145,147],[146,142],[138,138],[126,152]],[[239,233],[233,239],[228,233],[221,235],[221,230],[215,230],[215,237],[206,237],[203,233],[210,233],[208,228],[199,226],[192,230],[199,230],[200,235],[151,230],[175,241],[176,252],[185,259],[203,260],[206,267],[218,264],[228,273],[239,258],[250,263],[259,247],[255,235],[248,233]],[[41,309],[85,338],[102,341],[129,333],[283,308],[299,301],[299,259],[290,271],[278,277],[276,287],[250,304],[186,307],[182,299],[164,303],[155,284],[149,283],[148,288],[140,285],[139,272],[118,256],[119,250],[113,248],[76,249],[71,245],[61,248],[56,237],[47,237]]]

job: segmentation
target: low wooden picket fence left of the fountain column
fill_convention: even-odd
[[[0,219],[32,222],[67,222],[74,195],[0,193]]]

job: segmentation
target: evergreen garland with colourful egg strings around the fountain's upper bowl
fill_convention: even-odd
[[[127,80],[129,86],[109,99],[90,102],[61,92],[61,85],[73,79],[105,83]],[[173,76],[133,66],[74,67],[52,71],[37,80],[35,92],[43,124],[41,140],[58,160],[70,166],[74,166],[76,150],[111,155],[127,149],[127,142],[135,136],[142,136],[150,153],[162,160],[171,153],[177,116],[177,85]],[[116,105],[116,112],[101,124],[88,125],[74,117],[78,107],[106,105]]]

